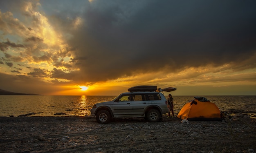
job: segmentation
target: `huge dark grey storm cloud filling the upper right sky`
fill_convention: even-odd
[[[70,46],[87,81],[239,63],[256,53],[255,7],[240,0],[96,0]]]

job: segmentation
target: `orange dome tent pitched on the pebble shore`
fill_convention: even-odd
[[[182,107],[177,117],[182,120],[221,120],[222,114],[216,104],[204,97],[195,97]]]

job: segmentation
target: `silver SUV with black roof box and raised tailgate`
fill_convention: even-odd
[[[166,88],[167,89],[167,88]],[[176,90],[168,88],[169,91]],[[157,86],[134,86],[108,102],[92,106],[91,114],[99,123],[108,123],[111,118],[144,117],[149,122],[159,122],[162,114],[168,113],[167,100]]]

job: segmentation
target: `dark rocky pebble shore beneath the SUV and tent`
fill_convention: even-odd
[[[98,124],[84,117],[0,117],[1,153],[254,153],[256,119],[226,121],[163,117]]]

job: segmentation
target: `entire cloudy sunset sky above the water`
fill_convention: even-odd
[[[256,95],[255,0],[1,0],[0,89]]]

